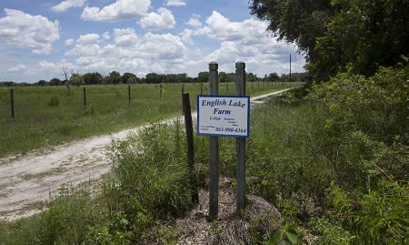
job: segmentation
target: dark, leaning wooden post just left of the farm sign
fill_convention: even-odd
[[[190,196],[193,203],[199,202],[199,190],[197,189],[197,180],[195,175],[195,151],[194,151],[194,137],[193,137],[193,123],[192,113],[190,109],[189,93],[182,95],[182,104],[185,115],[185,129],[186,129],[186,152],[187,163],[189,165],[189,179],[190,179]]]

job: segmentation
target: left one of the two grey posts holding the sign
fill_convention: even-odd
[[[218,65],[216,62],[209,64],[210,94],[217,95],[218,90]],[[209,185],[209,219],[217,219],[219,212],[219,139],[210,137],[210,185]]]

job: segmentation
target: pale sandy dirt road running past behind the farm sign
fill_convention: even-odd
[[[251,101],[256,104],[286,90],[252,97]],[[173,120],[165,121],[170,123]],[[144,126],[0,158],[0,219],[19,219],[41,211],[41,204],[64,184],[76,186],[100,179],[110,171],[106,148],[112,138],[126,138],[130,132],[137,133],[142,128]]]

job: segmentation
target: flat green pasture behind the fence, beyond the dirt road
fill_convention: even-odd
[[[294,87],[296,84],[247,84],[247,94]],[[185,84],[195,108],[200,84]],[[86,87],[14,87],[15,117],[11,117],[10,88],[0,87],[0,157],[35,148],[132,128],[145,122],[181,114],[182,84]],[[204,94],[208,85],[203,87]],[[219,94],[233,94],[234,84],[219,86]]]

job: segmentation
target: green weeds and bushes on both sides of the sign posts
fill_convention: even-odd
[[[252,111],[248,193],[284,218],[254,243],[407,244],[409,66],[374,77],[341,74]],[[175,244],[173,221],[193,207],[180,122],[114,140],[113,172],[96,189],[63,187],[47,209],[0,225],[4,244]],[[220,172],[234,179],[234,138],[220,138]],[[208,140],[195,137],[196,176],[208,178]],[[211,225],[211,223],[209,223]]]

